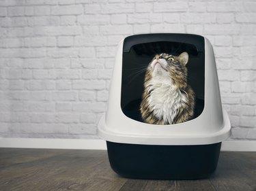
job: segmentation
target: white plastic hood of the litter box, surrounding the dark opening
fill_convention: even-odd
[[[231,135],[227,112],[221,106],[218,75],[210,41],[205,44],[205,94],[202,113],[180,124],[156,125],[128,118],[121,108],[122,56],[124,40],[119,43],[109,90],[106,114],[98,124],[98,136],[116,143],[145,145],[205,145],[224,141]]]

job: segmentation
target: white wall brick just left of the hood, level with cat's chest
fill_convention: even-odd
[[[102,90],[106,87],[104,80],[73,80],[74,90]]]

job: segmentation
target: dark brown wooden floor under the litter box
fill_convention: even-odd
[[[256,152],[221,152],[209,179],[157,181],[119,177],[106,151],[1,148],[0,190],[256,191]]]

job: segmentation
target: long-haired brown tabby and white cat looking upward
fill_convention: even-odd
[[[156,54],[147,67],[140,105],[143,122],[177,124],[194,116],[195,92],[188,85],[188,53]]]

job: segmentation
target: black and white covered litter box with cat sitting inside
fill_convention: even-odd
[[[161,59],[165,65],[158,61]],[[155,81],[147,79],[147,70],[164,73],[171,67],[174,73],[167,74],[171,76],[171,87],[182,76],[186,87],[177,82],[180,88],[167,88],[156,99],[154,93],[158,95],[162,91],[157,88],[169,81],[158,79],[152,90]],[[169,91],[177,93],[176,97],[172,99]],[[188,94],[192,99],[188,99]],[[148,103],[144,104],[143,99]],[[177,104],[168,110],[167,105],[173,100]],[[163,104],[159,106],[158,101]],[[152,110],[147,111],[143,104]],[[181,112],[184,112],[182,118],[188,114],[190,117],[175,120],[177,116],[173,115]],[[161,115],[162,121],[154,123]],[[145,120],[149,116],[151,120]],[[98,124],[98,135],[106,140],[109,161],[116,173],[143,179],[208,177],[216,169],[221,142],[230,134],[229,117],[221,105],[214,52],[208,39],[160,33],[132,35],[119,43],[108,108]]]

